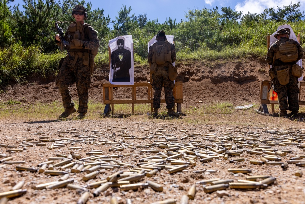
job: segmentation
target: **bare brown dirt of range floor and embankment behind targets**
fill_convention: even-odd
[[[179,62],[176,66],[179,72],[177,81],[183,81],[182,109],[198,106],[199,100],[203,100],[203,104],[215,102],[231,102],[236,106],[258,104],[259,81],[268,80],[267,65],[263,61],[254,59]],[[107,83],[108,69],[99,68],[94,73],[90,99],[102,101],[102,83]],[[135,65],[135,81],[148,81],[147,70],[148,67]],[[71,91],[76,99],[75,86]],[[115,97],[128,98],[129,93],[125,91],[117,88],[114,91]],[[33,76],[27,84],[5,87],[0,97],[1,101],[11,99],[21,101],[25,105],[60,101],[52,76],[47,79]],[[145,98],[145,93],[139,93],[139,98],[141,97]],[[26,193],[10,198],[8,204],[76,203],[84,191],[89,191],[90,197],[87,203],[110,203],[110,199],[114,196],[119,203],[124,204],[127,203],[126,199],[131,199],[132,203],[152,203],[170,198],[178,204],[181,203],[181,197],[188,194],[190,187],[197,183],[196,195],[193,200],[188,201],[190,204],[305,203],[304,176],[295,176],[298,169],[304,173],[304,167],[290,163],[287,169],[282,169],[281,165],[271,165],[272,163],[269,165],[250,163],[250,160],[260,161],[263,156],[261,154],[275,154],[275,150],[287,151],[286,155],[276,155],[280,162],[287,162],[291,158],[305,162],[303,122],[293,118],[268,117],[253,112],[242,114],[234,112],[229,115],[215,113],[213,116],[206,116],[202,123],[192,123],[196,115],[189,118],[188,122],[183,120],[187,117],[189,116],[183,115],[181,119],[163,120],[153,119],[147,115],[132,115],[127,118],[96,118],[96,120],[30,122],[23,118],[2,120],[0,160],[9,157],[12,157],[12,160],[0,163],[2,173],[0,192],[10,191],[15,184],[24,181],[21,189],[26,189]],[[45,146],[38,146],[37,143],[44,143]],[[123,148],[115,150],[115,147]],[[256,150],[259,153],[251,154],[249,150]],[[164,159],[177,153],[180,153],[181,157],[178,155],[177,158]],[[226,153],[230,154],[228,159],[224,158]],[[98,169],[97,175],[92,179],[84,180],[83,177],[87,172],[75,173],[71,172],[72,167],[63,168],[60,164],[57,166],[58,162],[66,159],[62,157],[69,158],[69,154],[80,155],[80,158],[72,157],[70,162],[87,165],[99,161],[104,167]],[[95,158],[86,158],[92,155]],[[211,161],[201,161],[202,158],[211,156],[213,157]],[[300,158],[293,158],[296,156]],[[58,181],[62,176],[16,170],[17,166],[39,170],[41,167],[38,167],[38,164],[52,161],[54,157],[61,157],[54,160],[54,170],[69,173],[68,179],[73,179],[73,184],[85,189],[71,190],[64,186],[38,190],[36,189],[38,184]],[[239,158],[244,158],[244,161],[230,162]],[[270,161],[271,159],[269,158]],[[174,163],[176,160],[179,164],[185,164],[185,169],[171,173],[174,166],[177,166]],[[195,164],[192,161],[195,161]],[[88,187],[88,184],[105,180],[120,170],[125,174],[131,171],[137,173],[136,171],[143,169],[147,172],[149,170],[146,170],[148,168],[145,167],[146,165],[156,165],[152,162],[159,163],[158,172],[154,176],[147,177],[144,174],[144,177],[138,181],[130,182],[142,183],[143,189],[139,187],[135,191],[123,191],[120,187],[109,187],[94,197],[96,188]],[[105,167],[106,165],[108,166]],[[111,165],[113,169],[106,169]],[[248,169],[249,172],[234,173],[229,172],[228,169]],[[123,174],[120,175],[124,177]],[[204,191],[205,187],[211,186],[210,183],[203,183],[204,180],[231,179],[233,182],[238,182],[238,180],[246,180],[247,176],[258,175],[273,176],[276,177],[276,181],[267,188],[227,187],[224,191],[212,193]],[[157,192],[147,187],[147,181],[160,184],[163,191]]]

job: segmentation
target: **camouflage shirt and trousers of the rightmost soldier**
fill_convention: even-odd
[[[283,43],[287,41],[288,38],[281,38],[280,42]],[[289,63],[283,63],[282,61],[275,60],[273,68],[275,70],[275,78],[273,79],[273,90],[278,94],[278,103],[279,103],[279,109],[280,110],[290,110],[293,112],[299,111],[299,97],[298,94],[300,93],[300,89],[298,87],[298,78],[296,76],[293,76],[291,74],[291,65],[296,64],[297,61],[302,59],[303,57],[303,50],[302,47],[299,45],[299,43],[296,43],[296,47],[298,50],[298,59],[295,62],[289,62]],[[275,54],[275,51],[277,49],[277,44],[273,43],[268,50],[266,61],[269,65],[272,65],[273,63],[273,56]],[[279,66],[282,65],[288,65],[290,68],[289,70],[289,82],[286,85],[281,85],[278,81],[276,70]],[[287,100],[288,98],[288,100]]]

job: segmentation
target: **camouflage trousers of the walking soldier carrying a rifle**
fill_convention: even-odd
[[[78,113],[87,113],[88,110],[88,89],[90,88],[90,66],[83,65],[82,58],[78,58],[74,67],[72,63],[74,56],[66,56],[63,64],[59,68],[56,76],[56,85],[63,100],[63,107],[70,108],[74,106],[69,86],[76,83],[78,95]]]

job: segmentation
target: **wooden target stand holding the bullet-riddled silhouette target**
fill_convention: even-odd
[[[111,52],[110,47],[108,46],[109,53],[109,67],[111,62]],[[111,69],[111,68],[110,68]],[[152,82],[150,74],[150,81]],[[131,99],[114,99],[113,98],[113,88],[114,87],[131,87]],[[147,99],[137,99],[137,87],[147,87],[148,98]],[[175,103],[177,103],[177,112],[181,113],[181,103],[183,103],[183,92],[182,92],[182,82],[175,82],[173,88],[173,95],[175,98]],[[111,83],[103,83],[103,103],[106,104],[104,113],[102,115],[108,116],[113,114],[114,104],[131,104],[131,113],[134,113],[134,105],[140,103],[150,103],[151,112],[153,111],[152,107],[153,95],[152,95],[152,84],[148,82],[135,82],[133,85],[115,85]],[[161,99],[161,103],[166,103],[165,99]],[[175,108],[174,108],[175,109]]]

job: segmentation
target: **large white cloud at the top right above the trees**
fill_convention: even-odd
[[[270,0],[246,0],[242,3],[238,3],[235,6],[235,11],[241,11],[242,14],[246,14],[248,11],[250,13],[260,14],[263,13],[264,9],[274,8],[277,10],[277,6],[283,9],[284,6],[289,6],[290,2],[292,2],[292,4],[300,2],[300,12],[305,10],[305,0],[278,0],[276,2]]]

